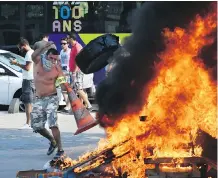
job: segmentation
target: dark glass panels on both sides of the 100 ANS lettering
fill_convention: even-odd
[[[54,33],[54,5],[80,2],[0,2],[0,46],[16,45],[19,38],[25,37],[33,44],[41,33]],[[140,2],[82,2],[86,12],[80,20],[80,33],[129,33],[128,16]]]

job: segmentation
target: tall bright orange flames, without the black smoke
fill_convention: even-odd
[[[205,17],[196,16],[187,29],[164,29],[166,49],[159,54],[161,62],[155,65],[156,77],[143,91],[147,104],[140,113],[127,113],[115,126],[106,128],[107,138],[79,161],[129,140],[113,150],[114,155],[129,153],[112,165],[128,172],[130,178],[140,178],[149,168],[144,158],[201,156],[202,148],[195,144],[197,131],[217,137],[217,86],[198,54],[213,43],[209,35],[216,31],[216,17],[213,7]],[[144,122],[139,120],[141,115],[147,116]]]

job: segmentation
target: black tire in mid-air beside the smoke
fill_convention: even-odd
[[[84,74],[99,71],[108,64],[108,59],[120,47],[119,37],[105,34],[90,41],[76,56],[76,64]]]

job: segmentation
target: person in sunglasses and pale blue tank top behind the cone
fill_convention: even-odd
[[[70,75],[69,75],[69,60],[70,60],[70,52],[71,49],[69,48],[69,43],[67,42],[67,38],[61,39],[61,52],[60,52],[60,59],[61,59],[61,66],[64,74],[66,75],[68,82],[70,82]],[[71,110],[71,105],[68,99],[67,92],[62,92],[64,100],[66,102],[66,107],[62,110],[63,112],[69,113]]]

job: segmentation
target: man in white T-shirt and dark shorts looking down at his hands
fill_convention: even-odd
[[[33,82],[33,61],[32,61],[32,54],[34,51],[31,49],[29,42],[25,38],[20,39],[18,48],[21,51],[26,51],[25,64],[20,64],[16,61],[16,59],[11,59],[11,64],[17,65],[21,69],[23,69],[21,100],[25,105],[26,124],[21,129],[31,129],[30,113],[32,112],[32,103],[33,103],[34,91],[35,91],[34,82]]]

